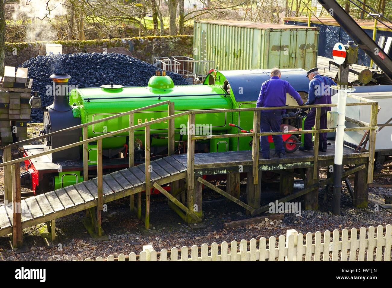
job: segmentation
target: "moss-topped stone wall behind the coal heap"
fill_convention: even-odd
[[[86,41],[5,43],[5,65],[16,67],[31,57],[45,55],[45,44],[47,43],[62,44],[62,53],[87,52],[87,48],[125,47],[131,51],[132,56],[152,63],[153,58],[159,56],[192,57],[193,36],[149,36]]]

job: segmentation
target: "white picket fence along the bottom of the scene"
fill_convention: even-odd
[[[201,245],[201,249],[193,245],[191,248],[183,246],[181,250],[171,248],[156,252],[151,245],[143,246],[140,255],[131,252],[115,258],[109,255],[107,260],[97,257],[95,261],[390,261],[392,245],[392,225],[368,229],[352,228],[350,237],[348,230],[325,231],[304,235],[295,230],[287,230],[287,237],[280,235],[278,239],[271,236],[267,240],[261,237],[259,241],[241,240],[231,241],[230,245],[224,241],[221,245],[212,243]],[[323,239],[322,239],[323,238]],[[287,239],[287,241],[286,241]],[[277,241],[278,240],[278,241]],[[323,240],[323,241],[321,241]],[[276,243],[278,242],[278,243]],[[230,247],[229,247],[230,246]],[[230,249],[229,249],[230,248]],[[180,259],[178,254],[180,252]],[[220,252],[220,253],[218,253]],[[169,255],[170,254],[170,255]],[[169,260],[170,256],[170,260]],[[366,256],[366,257],[365,257]],[[90,258],[85,261],[93,261]]]

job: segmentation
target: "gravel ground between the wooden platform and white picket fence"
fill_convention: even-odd
[[[383,171],[385,172],[385,171]],[[390,179],[377,179],[374,183],[388,184]],[[241,183],[241,197],[245,197],[246,182]],[[225,182],[216,182],[220,188],[225,189]],[[262,194],[262,203],[269,203],[278,197],[276,184],[269,184]],[[300,189],[300,187],[298,187]],[[31,249],[30,252],[15,254],[11,250],[9,238],[0,237],[0,259],[13,260],[84,260],[87,257],[95,259],[98,256],[125,255],[130,252],[139,254],[143,245],[152,245],[155,250],[170,249],[173,246],[201,246],[203,243],[211,245],[213,242],[232,241],[241,239],[270,237],[286,234],[287,229],[296,229],[298,232],[316,232],[343,228],[368,227],[370,225],[387,225],[391,223],[391,214],[385,210],[374,212],[374,205],[369,203],[366,209],[357,209],[350,205],[350,196],[343,188],[342,213],[340,216],[331,214],[332,196],[328,195],[327,202],[323,203],[324,190],[319,189],[318,211],[303,211],[301,216],[285,214],[281,221],[264,221],[258,225],[249,225],[232,229],[224,229],[223,223],[238,219],[245,219],[244,210],[234,203],[226,203],[220,195],[209,188],[203,190],[203,220],[204,228],[192,230],[168,206],[167,200],[159,195],[151,199],[151,227],[156,234],[143,235],[138,228],[141,224],[138,219],[129,213],[128,198],[109,203],[108,212],[103,213],[103,230],[109,236],[109,241],[94,241],[87,234],[82,217],[84,212],[66,216],[56,220],[56,231],[60,235],[62,249],[58,247],[46,248],[39,235],[39,227],[24,230],[24,243]],[[391,194],[391,189],[370,188],[370,197],[383,199],[384,194]],[[268,215],[266,215],[268,217]],[[42,227],[41,227],[42,228]]]

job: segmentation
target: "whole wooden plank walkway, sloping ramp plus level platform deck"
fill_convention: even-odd
[[[274,150],[270,151],[274,155]],[[327,152],[319,152],[319,165],[333,164],[334,145],[328,145]],[[354,153],[344,148],[344,164],[367,163],[368,153]],[[283,170],[305,168],[313,165],[313,151],[299,151],[287,154],[287,158],[259,159],[259,170]],[[187,177],[187,155],[177,154],[151,161],[151,181],[165,185]],[[206,174],[227,174],[238,172],[242,165],[243,172],[252,169],[252,152],[231,151],[195,154],[195,176]],[[122,169],[103,176],[103,203],[145,190],[145,165]],[[55,191],[29,197],[21,201],[22,228],[67,216],[87,208],[97,206],[97,178],[83,181]],[[12,233],[12,209],[0,206],[0,236]]]

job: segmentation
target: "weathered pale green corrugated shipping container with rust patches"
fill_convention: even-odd
[[[195,60],[215,60],[220,70],[317,66],[318,27],[248,21],[195,21]]]

